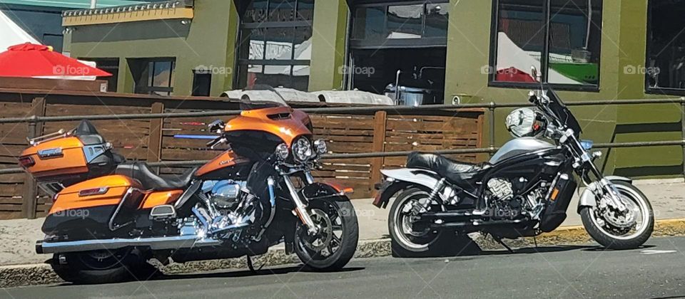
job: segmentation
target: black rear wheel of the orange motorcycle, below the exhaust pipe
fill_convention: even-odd
[[[133,248],[55,253],[51,266],[63,280],[83,284],[148,280],[157,273],[143,253]]]

